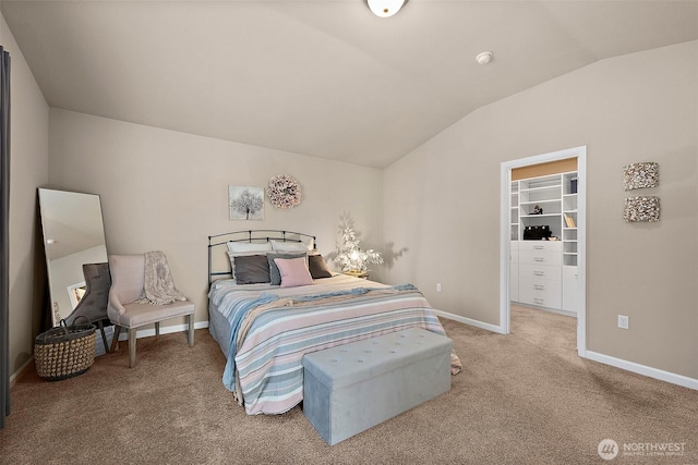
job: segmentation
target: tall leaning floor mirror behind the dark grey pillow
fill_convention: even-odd
[[[38,195],[51,320],[58,326],[79,306],[88,287],[83,266],[107,262],[101,201],[95,194],[43,187]]]

